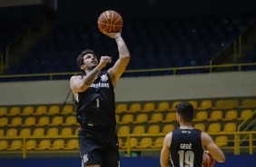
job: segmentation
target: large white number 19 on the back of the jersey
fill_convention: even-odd
[[[192,151],[179,151],[180,167],[193,167],[194,153]]]

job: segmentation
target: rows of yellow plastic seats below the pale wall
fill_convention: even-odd
[[[179,102],[116,103],[116,131],[121,151],[126,152],[128,143],[133,152],[159,151],[164,135],[176,128],[174,106]],[[225,133],[237,132],[242,121],[255,119],[251,116],[256,109],[255,98],[189,102],[195,108],[194,127],[203,132],[217,133],[213,140],[223,150],[234,147],[233,135]],[[74,110],[74,104],[1,106],[0,137],[8,139],[0,140],[0,152],[21,152],[23,149],[26,152],[77,151],[80,127]],[[129,142],[127,135],[131,135]]]

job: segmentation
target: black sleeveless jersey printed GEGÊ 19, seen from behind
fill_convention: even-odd
[[[172,132],[170,147],[173,167],[202,167],[201,131],[176,129]]]

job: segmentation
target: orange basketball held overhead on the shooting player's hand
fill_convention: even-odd
[[[120,33],[123,27],[123,18],[117,12],[107,10],[99,16],[98,27],[102,33]]]

